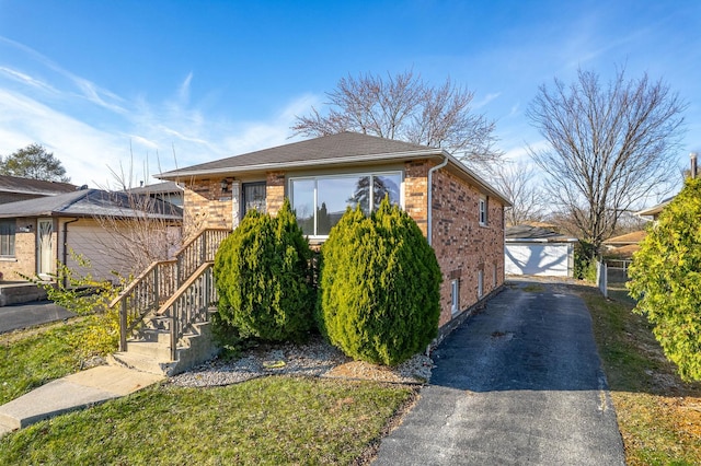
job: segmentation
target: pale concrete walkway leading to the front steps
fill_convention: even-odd
[[[126,396],[163,378],[112,365],[58,378],[0,406],[0,436],[62,412]]]

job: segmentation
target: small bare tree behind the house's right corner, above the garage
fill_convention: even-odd
[[[513,203],[504,212],[507,226],[543,219],[543,191],[533,166],[524,162],[505,163],[492,171],[492,184]]]

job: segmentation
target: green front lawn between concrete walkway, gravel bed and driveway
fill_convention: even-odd
[[[0,464],[352,464],[371,456],[412,388],[271,376],[169,384],[0,440]]]

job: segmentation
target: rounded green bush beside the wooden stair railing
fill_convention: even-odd
[[[242,338],[302,339],[313,327],[310,259],[287,199],[276,218],[249,211],[215,258],[220,317],[215,322]]]

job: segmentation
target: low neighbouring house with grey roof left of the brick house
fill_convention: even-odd
[[[161,200],[139,202],[125,193],[82,189],[51,197],[0,205],[0,272],[4,280],[20,275],[47,278],[56,264],[78,266],[71,252],[91,263],[95,279],[113,280],[113,271],[135,272],[128,252],[138,251],[151,232],[149,221],[175,225],[180,235],[182,210]],[[129,221],[141,219],[140,225]],[[140,231],[143,230],[143,231]],[[138,270],[137,270],[138,271]]]

